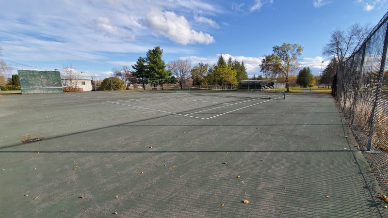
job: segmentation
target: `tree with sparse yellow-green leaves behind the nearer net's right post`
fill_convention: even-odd
[[[301,66],[299,61],[303,47],[298,44],[283,43],[281,46],[273,47],[273,51],[274,53],[271,55],[264,55],[264,59],[259,65],[260,71],[266,77],[283,75],[286,78],[287,92],[289,92],[288,77]]]

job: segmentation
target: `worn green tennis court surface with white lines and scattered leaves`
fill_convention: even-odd
[[[332,96],[275,94],[0,96],[0,214],[387,217]]]

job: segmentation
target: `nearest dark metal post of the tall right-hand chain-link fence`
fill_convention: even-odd
[[[373,134],[374,134],[374,127],[375,127],[375,122],[376,122],[376,117],[377,117],[376,106],[380,100],[380,92],[381,92],[381,86],[383,84],[385,62],[387,59],[387,49],[388,49],[388,22],[387,22],[387,30],[385,32],[383,55],[381,57],[381,63],[380,63],[379,80],[378,80],[378,84],[377,84],[376,97],[374,99],[374,105],[373,105],[373,109],[372,109],[372,125],[371,125],[371,130],[369,131],[369,139],[368,139],[368,146],[367,146],[368,151],[371,150],[372,143],[373,143],[372,140],[373,140]]]

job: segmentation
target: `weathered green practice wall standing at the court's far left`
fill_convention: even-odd
[[[59,71],[17,70],[22,94],[63,93]]]

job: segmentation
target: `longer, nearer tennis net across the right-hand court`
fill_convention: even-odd
[[[189,93],[195,95],[211,95],[211,96],[223,96],[223,97],[235,97],[235,98],[277,98],[282,97],[284,99],[284,89],[209,89],[209,88],[197,88],[189,87]]]

